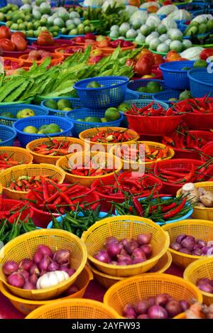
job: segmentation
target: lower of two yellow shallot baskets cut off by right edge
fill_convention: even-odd
[[[188,266],[183,274],[183,278],[185,280],[190,281],[194,285],[199,278],[209,278],[209,280],[213,279],[213,257],[212,258],[202,258],[194,261]],[[213,303],[213,294],[205,293],[200,290],[203,297],[204,304],[210,305]]]

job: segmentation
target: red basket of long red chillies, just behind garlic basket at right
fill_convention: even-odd
[[[162,160],[158,164],[158,168],[163,169],[173,169],[173,168],[192,168],[192,164],[195,165],[195,168],[202,165],[203,162],[201,160],[191,160],[190,158],[175,158],[173,160]],[[157,175],[156,175],[157,176]],[[196,182],[196,181],[195,181]],[[184,185],[182,184],[172,184],[171,182],[163,182],[163,192],[168,193],[170,195],[176,195],[178,190]]]

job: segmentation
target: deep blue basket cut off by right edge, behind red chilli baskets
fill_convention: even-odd
[[[187,73],[193,97],[213,97],[213,72],[207,68],[194,68]]]

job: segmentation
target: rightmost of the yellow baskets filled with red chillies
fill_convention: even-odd
[[[158,142],[152,142],[152,141],[137,141],[138,143],[147,143],[149,148],[161,148],[161,149],[165,149],[165,145],[163,145],[163,143],[158,143]],[[131,143],[129,143],[131,145]],[[135,143],[133,143],[135,144]],[[122,143],[121,143],[122,145]],[[126,143],[125,143],[126,145]],[[112,153],[113,155],[116,155],[116,149],[118,146],[113,146],[111,147],[110,153]],[[170,160],[171,158],[173,158],[175,155],[175,151],[172,148],[169,148],[168,151],[168,157],[167,158],[163,158],[163,160]],[[119,156],[118,156],[119,157]],[[139,165],[144,165],[145,169],[146,168],[150,168],[151,165],[153,165],[153,163],[155,162],[144,162],[144,163],[138,163],[138,162],[133,162],[130,160],[123,160],[121,158],[121,161],[124,163],[124,170],[129,170],[129,171],[136,171],[139,169]],[[158,160],[158,163],[160,163],[160,161]]]

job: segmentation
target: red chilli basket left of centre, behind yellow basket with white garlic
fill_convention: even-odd
[[[60,184],[58,185],[59,188],[65,186],[65,184]],[[67,186],[70,186],[70,184],[67,184]],[[42,189],[42,187],[38,187],[37,191],[40,191]],[[80,202],[96,202],[97,200],[99,200],[99,195],[97,192],[94,192],[93,189],[89,189],[87,187],[85,187],[85,189],[87,189],[87,194],[84,195],[84,197],[80,198]],[[86,190],[85,190],[86,191]],[[26,200],[35,200],[35,197],[33,195],[32,192],[29,192]],[[70,195],[70,199],[72,199],[72,196]],[[30,202],[31,203],[31,202]],[[35,206],[33,206],[32,204],[32,210],[33,210],[33,222],[35,223],[36,226],[40,226],[41,228],[46,228],[46,226],[48,226],[49,222],[52,221],[52,215],[54,217],[59,217],[60,214],[50,214],[49,212],[43,212],[40,209],[37,209]],[[97,206],[100,204],[100,202],[96,202],[94,204],[91,204],[90,208],[91,209],[96,209]]]

